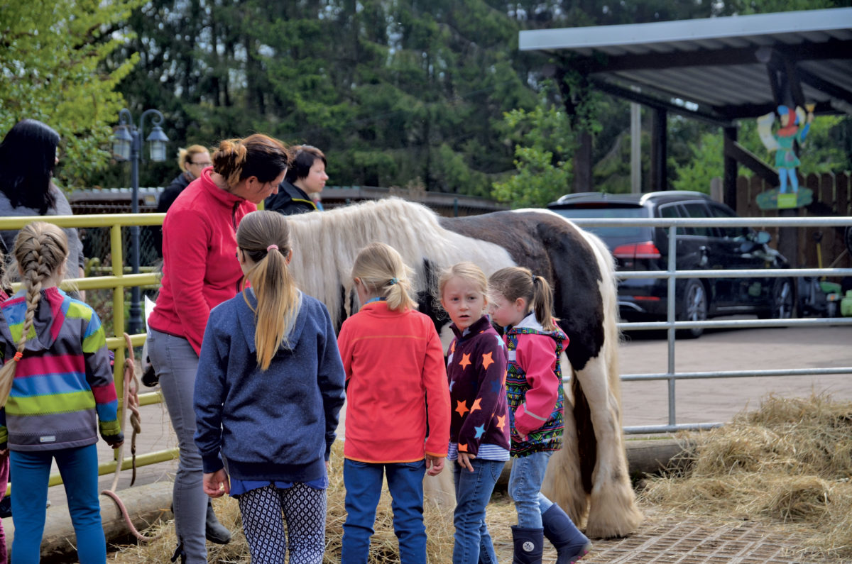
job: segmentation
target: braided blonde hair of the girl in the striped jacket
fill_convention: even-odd
[[[6,359],[0,368],[0,406],[6,405],[9,391],[14,382],[17,360],[23,354],[29,337],[36,308],[41,300],[42,285],[45,280],[54,277],[65,265],[68,258],[68,239],[65,232],[52,223],[27,223],[14,239],[12,251],[15,262],[23,273],[23,286],[26,290],[26,314],[20,340],[16,343],[14,359]]]

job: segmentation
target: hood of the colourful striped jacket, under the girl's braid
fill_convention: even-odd
[[[32,319],[32,328],[35,330],[36,338],[27,339],[24,346],[25,351],[42,351],[53,346],[56,337],[59,336],[65,315],[68,309],[66,301],[71,300],[64,291],[56,286],[43,290],[41,299],[36,306],[35,317]],[[8,342],[18,342],[26,317],[26,290],[21,289],[14,296],[0,304],[3,312],[3,320],[0,323],[0,331]],[[14,334],[17,338],[13,337]]]

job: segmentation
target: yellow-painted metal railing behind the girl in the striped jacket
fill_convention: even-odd
[[[107,336],[107,348],[115,353],[115,364],[113,367],[113,378],[115,380],[116,394],[118,395],[118,417],[124,422],[124,405],[122,398],[124,394],[124,290],[133,286],[159,285],[159,276],[156,273],[126,274],[124,273],[124,250],[122,247],[121,229],[134,225],[162,225],[165,214],[102,214],[97,216],[20,216],[0,217],[0,231],[17,231],[27,223],[34,221],[50,222],[59,227],[109,227],[110,228],[110,252],[112,256],[111,276],[95,276],[91,278],[66,279],[60,287],[63,289],[74,288],[77,290],[112,290],[112,336]],[[145,334],[140,333],[130,336],[130,342],[134,347],[140,347],[145,342]],[[141,406],[163,401],[160,392],[139,394]],[[136,466],[164,462],[177,458],[176,448],[147,452],[136,457]],[[132,458],[124,458],[121,468],[128,469],[133,463]],[[98,475],[111,474],[115,471],[117,461],[101,463],[98,465]],[[49,486],[62,483],[59,474],[50,475]]]

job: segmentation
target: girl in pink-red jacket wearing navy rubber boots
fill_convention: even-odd
[[[501,268],[488,279],[491,317],[505,328],[509,349],[506,393],[512,437],[509,495],[518,525],[512,527],[515,564],[541,564],[544,537],[556,548],[556,564],[573,564],[591,547],[558,505],[539,491],[550,455],[562,446],[563,401],[559,355],[568,337],[553,317],[553,291],[528,268]]]

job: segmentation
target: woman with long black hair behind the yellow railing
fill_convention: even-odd
[[[59,162],[56,147],[60,137],[54,129],[35,119],[14,124],[0,143],[0,216],[71,216],[65,194],[53,183]],[[83,245],[77,229],[62,229],[68,238],[69,278],[83,277]],[[17,230],[0,231],[0,250],[12,256]],[[7,259],[8,260],[8,259]]]

